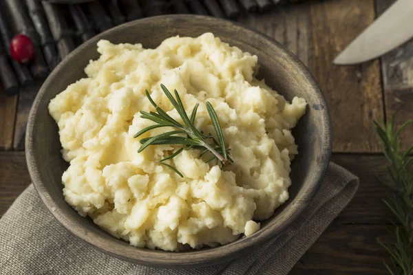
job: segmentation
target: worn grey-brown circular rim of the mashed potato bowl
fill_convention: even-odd
[[[114,243],[107,242],[107,237],[98,236],[94,234],[94,232],[87,232],[82,228],[77,228],[74,221],[70,217],[70,214],[64,212],[61,208],[59,208],[58,203],[54,200],[51,193],[45,187],[45,184],[41,181],[40,173],[39,173],[39,166],[37,166],[35,157],[34,157],[34,142],[33,142],[33,133],[34,133],[34,125],[35,125],[35,115],[37,110],[39,109],[39,104],[43,99],[43,96],[46,94],[47,89],[50,87],[52,79],[55,79],[56,76],[61,74],[62,68],[65,67],[67,63],[70,63],[73,56],[81,54],[83,49],[89,47],[91,44],[96,44],[96,41],[102,38],[102,36],[106,36],[107,34],[111,34],[114,32],[121,32],[123,29],[131,28],[131,26],[136,24],[142,23],[151,23],[154,20],[171,18],[171,19],[182,19],[194,20],[195,22],[198,21],[215,21],[219,22],[224,25],[231,26],[231,28],[236,28],[238,30],[243,30],[248,32],[248,34],[256,37],[260,37],[264,41],[267,41],[273,44],[275,47],[278,48],[281,52],[284,52],[288,58],[288,61],[291,63],[292,67],[300,72],[302,77],[306,78],[307,82],[310,84],[311,89],[313,89],[313,93],[317,96],[317,99],[320,100],[324,104],[324,111],[320,112],[323,118],[323,126],[324,132],[322,133],[321,140],[323,140],[322,147],[320,148],[321,154],[319,158],[320,165],[317,167],[315,171],[314,180],[310,182],[309,185],[306,186],[306,197],[304,197],[304,201],[302,203],[295,203],[291,206],[291,210],[293,214],[291,214],[288,219],[282,221],[281,223],[277,223],[275,225],[271,225],[268,228],[262,228],[257,233],[248,236],[248,238],[243,239],[243,241],[235,241],[233,243],[228,243],[226,245],[220,245],[216,248],[211,248],[207,250],[191,250],[190,252],[165,252],[163,250],[149,250],[147,248],[136,248],[134,246],[129,245],[131,249],[130,253],[128,252],[127,255],[124,253],[120,254],[120,252],[127,249],[126,246],[122,248],[114,248]],[[52,213],[54,218],[56,218],[62,225],[65,227],[70,233],[74,236],[77,236],[79,239],[82,239],[89,245],[94,246],[100,251],[105,252],[106,254],[112,255],[118,259],[122,259],[124,261],[129,261],[131,263],[139,263],[142,265],[149,265],[152,267],[169,267],[169,268],[189,268],[194,267],[195,265],[198,266],[207,266],[207,265],[215,265],[218,263],[222,263],[224,261],[229,261],[230,259],[234,259],[237,254],[244,252],[245,250],[256,248],[257,245],[262,244],[264,241],[270,239],[273,236],[276,236],[288,226],[292,221],[297,219],[299,214],[303,212],[306,208],[308,203],[313,199],[315,192],[321,186],[321,182],[324,179],[324,175],[326,170],[328,169],[328,164],[330,162],[330,155],[332,151],[332,124],[330,119],[330,112],[328,111],[328,104],[326,104],[326,100],[324,95],[319,90],[319,87],[315,81],[315,78],[307,69],[307,67],[299,61],[299,59],[288,51],[284,46],[279,44],[277,41],[272,39],[266,34],[262,34],[257,30],[253,30],[248,26],[242,25],[240,23],[236,23],[233,21],[229,21],[226,19],[217,19],[213,17],[206,17],[202,15],[195,15],[195,14],[169,14],[169,15],[161,15],[157,17],[147,17],[145,19],[138,19],[136,21],[130,21],[128,23],[124,23],[122,25],[118,25],[115,28],[109,29],[105,32],[102,32],[94,38],[89,39],[85,43],[79,45],[73,52],[71,52],[63,61],[53,70],[50,76],[47,77],[39,93],[37,94],[32,108],[30,109],[28,124],[26,129],[26,137],[25,137],[25,157],[28,163],[28,170],[30,173],[30,177],[34,184],[34,188],[39,193],[41,200],[47,207],[47,209]],[[264,230],[265,229],[265,230]],[[132,250],[134,253],[132,253]]]

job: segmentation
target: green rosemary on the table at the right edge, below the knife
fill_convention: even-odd
[[[394,114],[390,122],[374,122],[374,128],[380,137],[383,153],[390,162],[387,180],[381,180],[394,189],[384,203],[394,214],[395,223],[388,228],[395,238],[392,245],[379,243],[387,250],[392,259],[392,264],[385,264],[392,275],[413,275],[413,145],[406,151],[401,149],[400,133],[413,120],[408,120],[399,130],[394,129]]]

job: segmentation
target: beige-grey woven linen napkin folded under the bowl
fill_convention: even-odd
[[[72,236],[31,184],[0,220],[1,274],[287,274],[354,196],[359,179],[330,163],[301,219],[247,256],[212,267],[163,270],[107,256]]]

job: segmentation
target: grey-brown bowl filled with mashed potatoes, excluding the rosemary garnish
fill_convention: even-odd
[[[182,122],[161,84],[188,114],[198,106],[202,133],[216,135],[213,106],[233,162],[189,148],[161,165],[179,144],[138,153],[135,134],[153,125],[140,112],[155,111],[145,91]],[[200,267],[299,219],[328,167],[330,132],[313,76],[288,50],[231,21],[171,15],[120,25],[67,56],[34,101],[26,157],[47,208],[83,241],[133,263]]]

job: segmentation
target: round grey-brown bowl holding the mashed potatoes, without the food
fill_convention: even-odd
[[[306,114],[293,131],[299,155],[293,160],[289,188],[290,199],[277,208],[273,217],[262,222],[262,229],[233,243],[217,248],[188,252],[165,252],[135,248],[100,230],[91,219],[81,217],[62,194],[61,177],[67,163],[61,157],[56,122],[47,111],[50,100],[67,85],[85,77],[83,68],[89,59],[98,58],[96,43],[107,39],[113,43],[142,43],[157,47],[170,36],[199,36],[213,32],[222,41],[258,56],[259,78],[284,95],[308,102]],[[331,125],[328,107],[308,69],[273,39],[231,21],[196,15],[151,17],[120,25],[95,36],[79,46],[54,69],[34,100],[25,140],[26,158],[34,187],[54,217],[72,234],[95,248],[132,263],[153,267],[200,267],[222,263],[251,252],[251,248],[286,229],[313,199],[328,167],[331,153]]]

